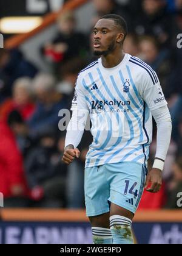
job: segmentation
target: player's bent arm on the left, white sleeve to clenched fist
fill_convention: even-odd
[[[89,107],[87,106],[85,91],[81,83],[81,78],[78,77],[75,87],[75,95],[72,101],[73,111],[72,119],[67,127],[65,150],[62,157],[62,162],[70,165],[75,158],[79,158],[80,152],[77,149],[83,137],[86,127],[87,118],[89,115]]]

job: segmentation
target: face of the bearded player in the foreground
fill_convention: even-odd
[[[118,43],[120,32],[113,20],[102,19],[96,23],[93,29],[94,54],[108,55],[113,52]]]

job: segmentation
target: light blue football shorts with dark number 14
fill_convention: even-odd
[[[144,191],[147,168],[141,163],[122,162],[86,168],[87,216],[110,211],[110,203],[136,212]]]

